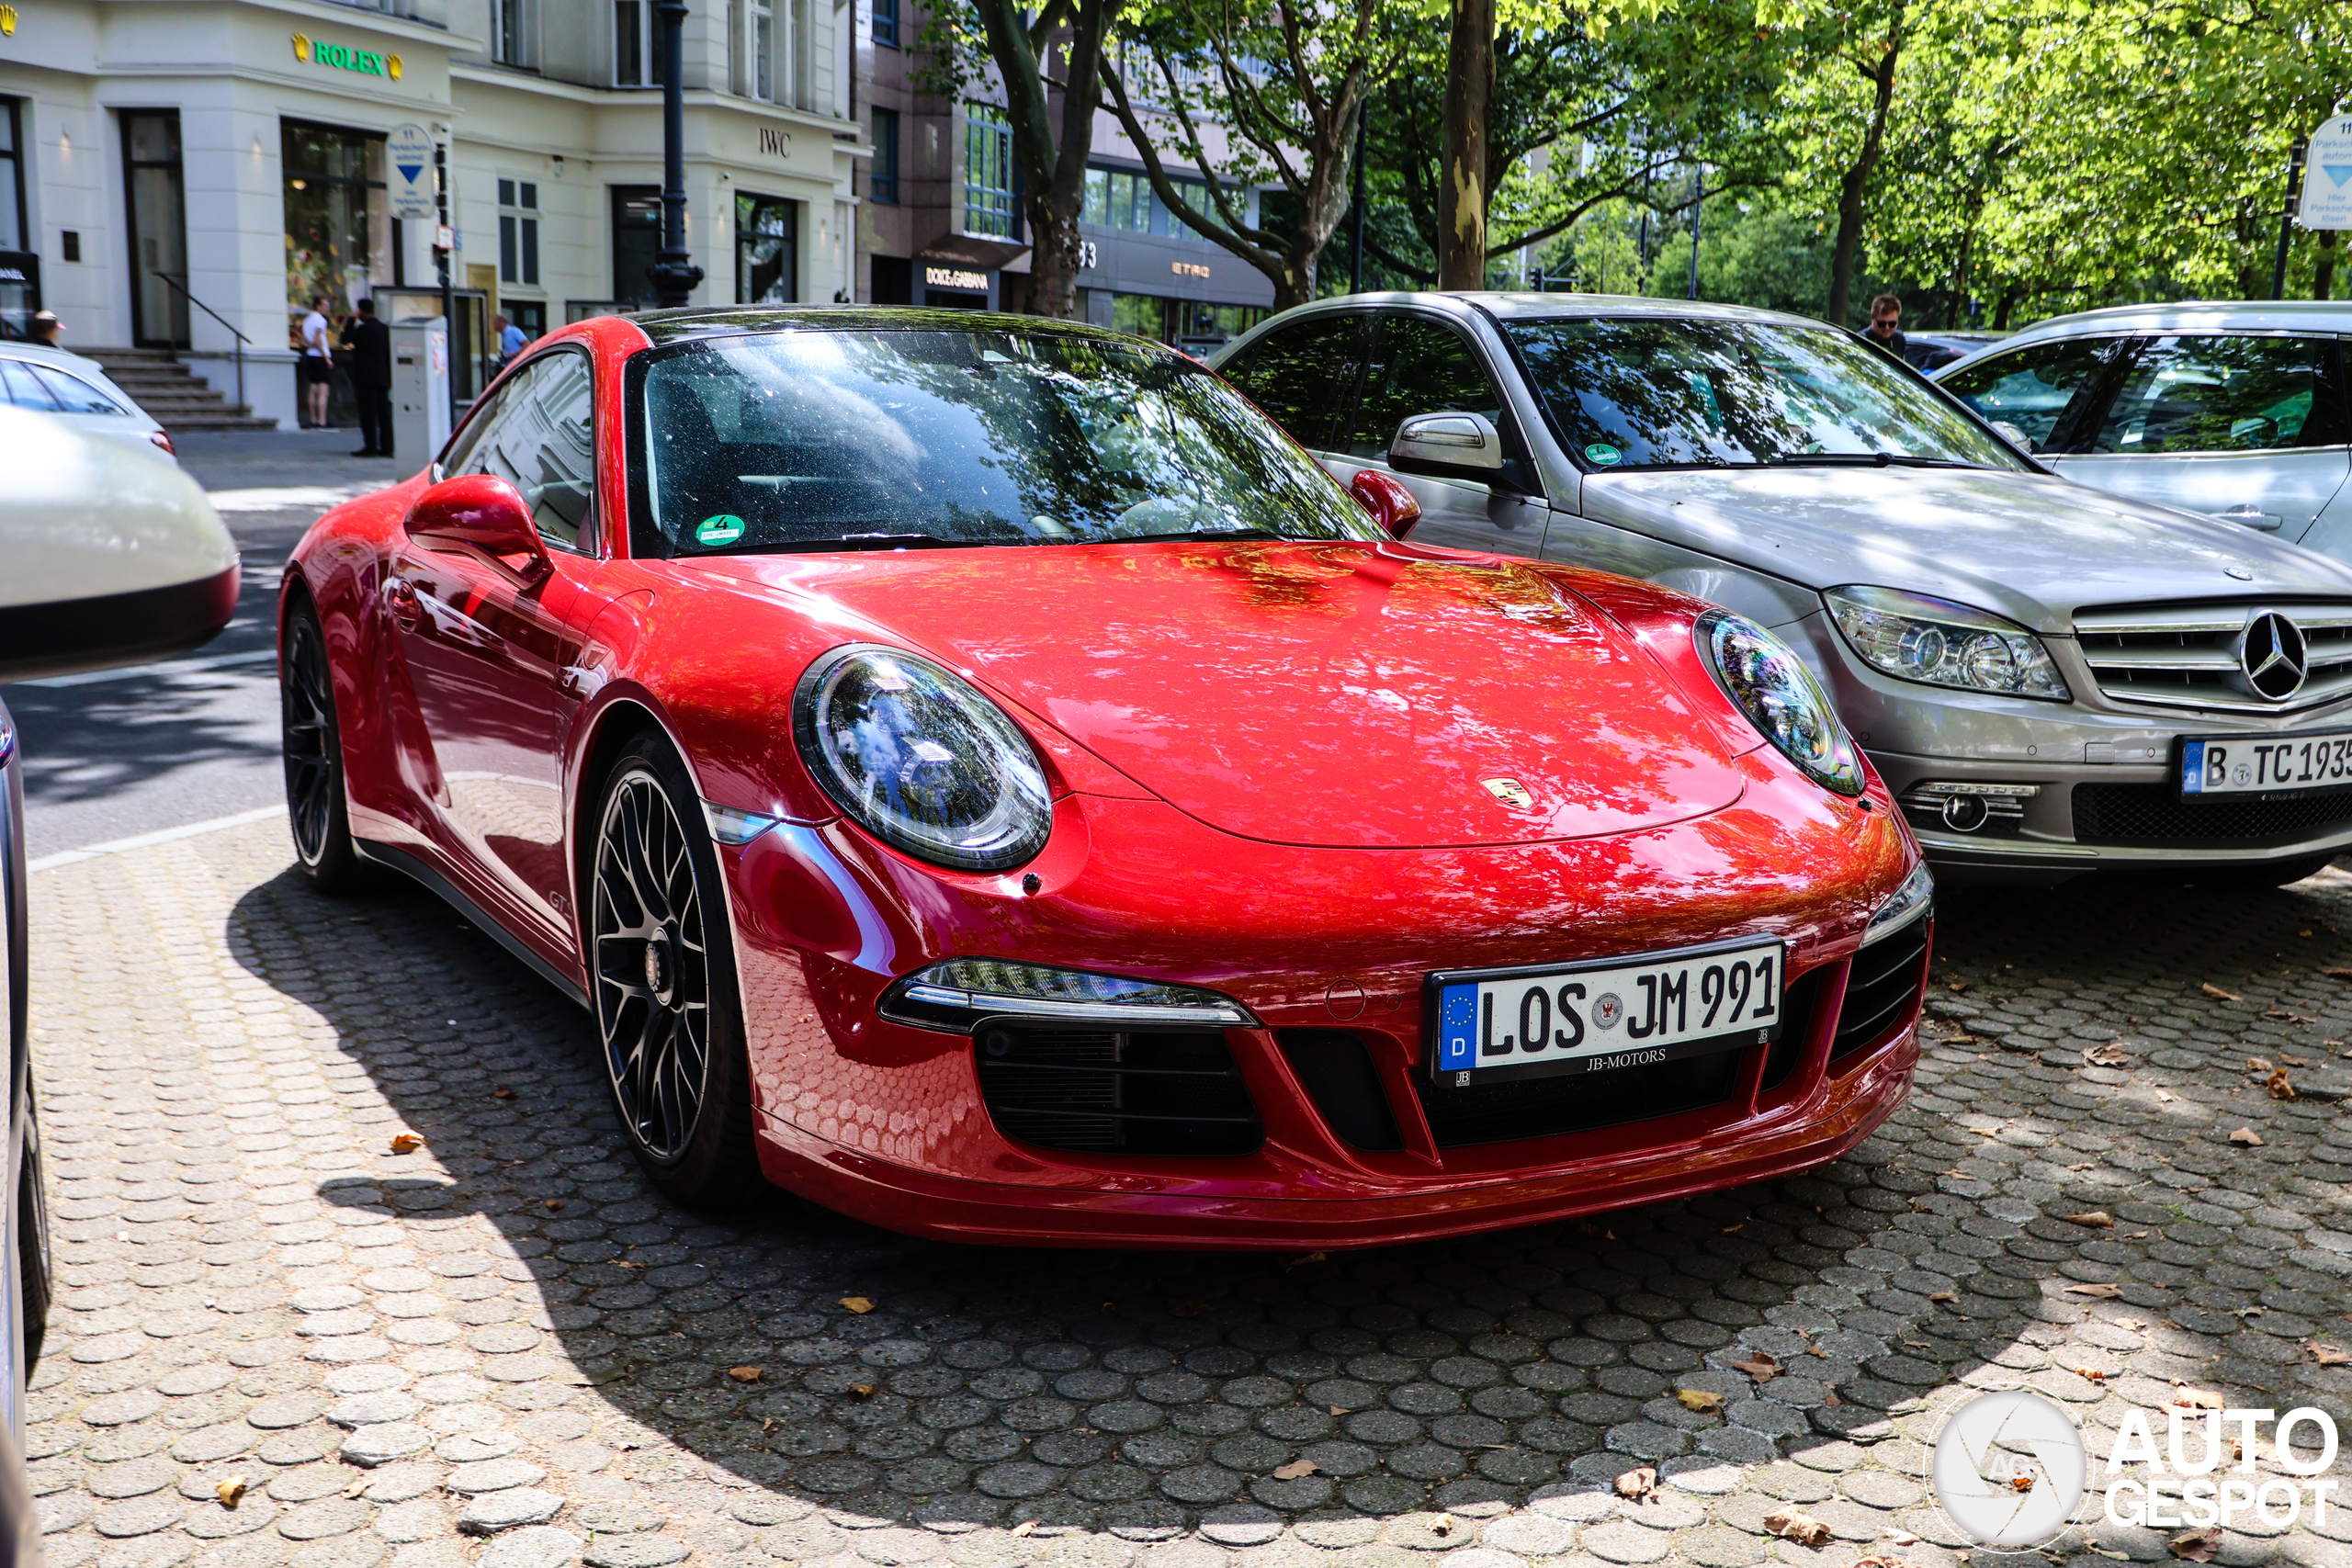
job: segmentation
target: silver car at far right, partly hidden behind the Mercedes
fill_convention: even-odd
[[[2067,480],[2352,559],[2352,303],[2187,303],[2034,322],[1936,371]]]

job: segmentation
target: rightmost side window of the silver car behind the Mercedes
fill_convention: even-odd
[[[2091,451],[2340,447],[2347,435],[2333,360],[2324,339],[2143,339]]]

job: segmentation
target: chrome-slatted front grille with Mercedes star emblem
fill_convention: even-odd
[[[2310,677],[2284,703],[2253,696],[2237,639],[2260,611],[2303,630]],[[2074,614],[2074,642],[2098,689],[2119,703],[2211,712],[2300,712],[2352,696],[2352,604],[2166,604]]]

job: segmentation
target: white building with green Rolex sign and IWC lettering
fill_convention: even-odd
[[[694,303],[856,289],[858,0],[689,0]],[[386,202],[383,136],[447,146],[461,395],[487,320],[649,301],[661,92],[652,0],[9,0],[0,282],[35,259],[68,348],[176,348],[294,423],[313,294],[437,310],[430,223]],[[21,270],[33,270],[24,268]],[[5,296],[0,296],[5,303]]]

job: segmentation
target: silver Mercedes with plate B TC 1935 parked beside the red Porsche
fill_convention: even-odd
[[[1945,875],[2293,882],[2352,846],[2352,567],[2051,475],[1820,322],[1371,294],[1214,364],[1414,543],[1665,583],[1795,644]]]

